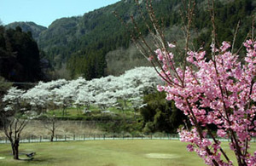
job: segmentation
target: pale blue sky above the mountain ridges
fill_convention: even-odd
[[[83,15],[120,0],[0,0],[3,25],[15,21],[32,21],[48,27],[62,17]]]

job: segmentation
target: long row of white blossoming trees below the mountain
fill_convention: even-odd
[[[42,114],[49,108],[61,108],[62,114],[67,114],[67,107],[85,106],[90,109],[90,105],[96,105],[105,110],[110,106],[119,106],[121,110],[125,108],[127,101],[142,98],[148,90],[154,89],[160,79],[155,74],[152,67],[137,67],[119,77],[102,77],[90,81],[79,77],[76,80],[67,81],[64,79],[51,81],[49,83],[40,82],[32,89],[28,89],[20,96],[20,105],[26,107],[28,111]],[[11,89],[20,93],[20,89]],[[8,97],[10,94],[7,94]],[[12,103],[13,98],[8,100]],[[6,109],[10,105],[7,105]]]

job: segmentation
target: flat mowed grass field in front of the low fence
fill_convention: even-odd
[[[224,149],[228,144],[224,143]],[[15,161],[10,145],[0,145],[0,165],[54,166],[201,166],[205,165],[195,152],[186,151],[179,140],[86,140],[20,144],[20,158],[36,152],[33,160]],[[255,151],[253,143],[253,151]]]

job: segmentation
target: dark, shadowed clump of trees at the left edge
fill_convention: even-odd
[[[9,81],[35,82],[42,77],[38,44],[20,27],[0,26],[0,75]]]

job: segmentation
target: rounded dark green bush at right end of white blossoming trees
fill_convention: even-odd
[[[184,124],[183,112],[174,106],[173,101],[166,100],[165,93],[157,92],[145,95],[143,103],[140,113],[145,123],[144,132],[176,133],[178,126]]]

